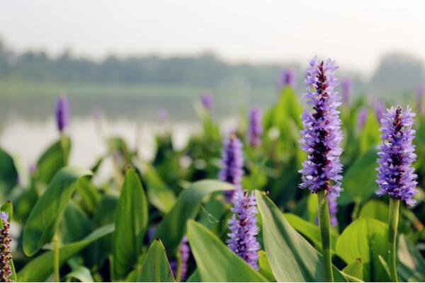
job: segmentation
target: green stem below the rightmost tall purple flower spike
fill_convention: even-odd
[[[392,282],[398,282],[397,279],[397,225],[399,218],[400,200],[390,197],[390,215],[388,219],[388,266],[390,267],[390,277]]]

